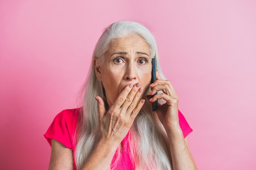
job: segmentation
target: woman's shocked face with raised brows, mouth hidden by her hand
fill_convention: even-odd
[[[150,49],[138,35],[111,42],[103,63],[94,60],[97,77],[102,81],[109,107],[130,83],[141,83],[143,91],[151,80]]]

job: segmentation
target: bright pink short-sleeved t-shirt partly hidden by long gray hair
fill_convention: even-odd
[[[61,111],[56,115],[54,118],[52,124],[49,126],[47,132],[44,134],[44,137],[49,142],[50,146],[52,146],[52,139],[57,140],[58,142],[61,142],[64,144],[67,148],[72,149],[73,151],[73,157],[74,157],[74,150],[75,150],[75,141],[74,141],[74,135],[76,130],[76,122],[79,114],[79,108],[78,109],[66,109]],[[180,121],[180,127],[182,129],[184,138],[189,135],[189,133],[192,132],[192,129],[190,128],[189,124],[186,122],[186,119],[182,115],[182,113],[179,111],[179,121]],[[134,169],[132,167],[132,162],[130,160],[130,156],[127,152],[129,150],[128,148],[128,140],[127,136],[123,139],[123,152],[121,153],[121,159],[117,163],[117,170],[132,170]],[[115,156],[113,157],[112,162],[114,161]],[[76,170],[76,164],[74,161],[74,169]]]

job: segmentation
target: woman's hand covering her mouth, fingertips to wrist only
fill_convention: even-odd
[[[139,101],[143,91],[139,87],[140,83],[127,85],[107,113],[102,98],[95,97],[98,101],[101,139],[106,142],[114,142],[118,146],[127,135],[145,102],[144,99]]]

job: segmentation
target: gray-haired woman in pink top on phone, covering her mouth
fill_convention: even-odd
[[[153,58],[157,80],[150,83]],[[59,113],[44,135],[52,146],[49,169],[197,169],[186,137],[192,129],[164,80],[147,28],[111,24],[97,42],[92,65],[83,107]]]

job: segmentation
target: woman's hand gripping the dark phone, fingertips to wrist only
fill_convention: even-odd
[[[168,80],[162,80],[159,76],[158,71],[156,71],[156,81],[149,86],[152,90],[149,95],[154,95],[157,91],[163,91],[162,94],[156,94],[149,99],[150,102],[155,102],[157,99],[164,99],[166,103],[163,105],[157,103],[156,113],[160,122],[164,125],[164,128],[171,130],[179,125],[178,117],[178,101],[179,97]]]

